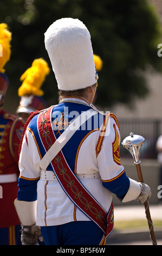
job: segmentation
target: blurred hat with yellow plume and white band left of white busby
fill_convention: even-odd
[[[21,99],[16,114],[22,117],[24,121],[27,121],[30,112],[40,111],[47,107],[47,103],[42,97],[44,92],[41,86],[49,71],[47,62],[40,58],[35,59],[31,67],[21,76],[20,80],[23,83],[18,89],[18,96]]]

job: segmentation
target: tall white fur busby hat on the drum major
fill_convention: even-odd
[[[83,89],[97,82],[90,34],[80,20],[57,20],[50,25],[44,36],[60,90]]]

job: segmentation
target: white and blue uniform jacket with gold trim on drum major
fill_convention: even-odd
[[[77,114],[90,108],[93,106],[89,106],[88,102],[80,97],[66,97],[59,105],[54,106],[51,124],[56,138],[72,123]],[[63,147],[62,153],[83,186],[108,212],[112,193],[122,200],[129,190],[130,180],[124,167],[120,165],[118,120],[113,114],[105,115],[99,111],[95,117],[97,118],[89,119],[89,123],[87,121],[86,125],[75,132]],[[104,119],[105,131],[102,129]],[[45,151],[37,133],[37,120],[38,115],[30,121],[23,137],[17,199],[28,202],[37,200],[36,224],[40,226],[89,221],[68,198],[56,177],[48,175],[51,173],[50,164],[45,170],[46,173],[40,169],[39,163]],[[53,144],[50,134],[47,143]],[[135,197],[134,195],[133,199]]]

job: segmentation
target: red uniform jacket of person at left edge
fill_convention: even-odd
[[[16,173],[17,178],[19,176],[18,147],[23,126],[24,123],[20,118],[3,109],[0,111],[0,228],[20,223],[14,207],[18,182],[2,182],[2,179],[5,174]]]

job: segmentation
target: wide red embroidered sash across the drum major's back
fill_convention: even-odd
[[[38,131],[42,144],[46,151],[56,141],[54,131],[51,124],[51,112],[53,107],[46,109],[38,116]],[[106,235],[111,234],[113,230],[113,203],[109,212],[102,208],[102,206],[92,197],[92,195],[81,184],[79,179],[69,168],[68,163],[64,159],[62,151],[60,151],[51,161],[53,171],[60,182],[64,192],[72,200],[72,202],[94,221]]]

